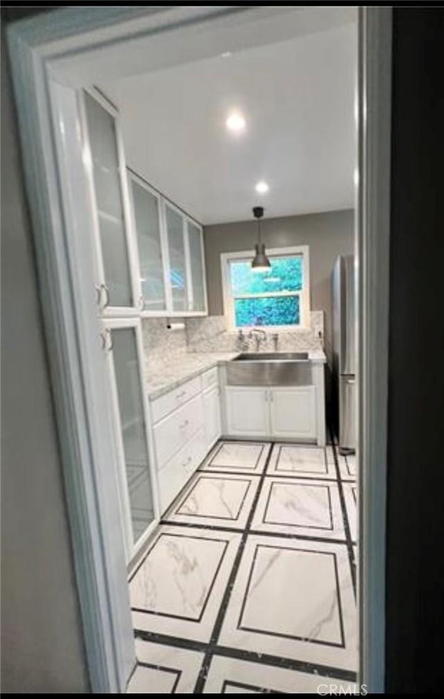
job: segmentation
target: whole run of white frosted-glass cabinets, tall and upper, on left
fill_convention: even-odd
[[[159,519],[142,319],[207,315],[202,226],[126,167],[119,113],[80,93],[98,333],[112,400],[119,500],[131,562]]]

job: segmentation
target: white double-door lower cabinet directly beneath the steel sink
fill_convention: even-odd
[[[304,441],[318,436],[314,386],[228,386],[225,407],[228,436]]]

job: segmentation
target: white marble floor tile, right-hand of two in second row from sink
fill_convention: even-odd
[[[263,533],[345,538],[337,484],[266,477],[252,528]]]

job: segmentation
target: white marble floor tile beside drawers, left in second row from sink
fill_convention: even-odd
[[[244,527],[259,480],[258,476],[251,475],[198,472],[164,519],[187,524]]]

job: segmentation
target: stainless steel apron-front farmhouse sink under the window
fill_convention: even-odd
[[[229,386],[309,386],[308,352],[245,352],[226,365]]]

